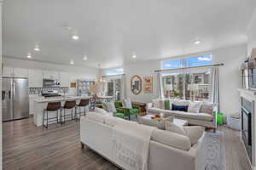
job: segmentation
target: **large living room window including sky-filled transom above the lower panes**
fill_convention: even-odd
[[[177,69],[212,65],[212,54],[162,61],[162,69]],[[209,100],[212,84],[211,69],[186,69],[171,71],[162,75],[162,89],[165,98]]]

